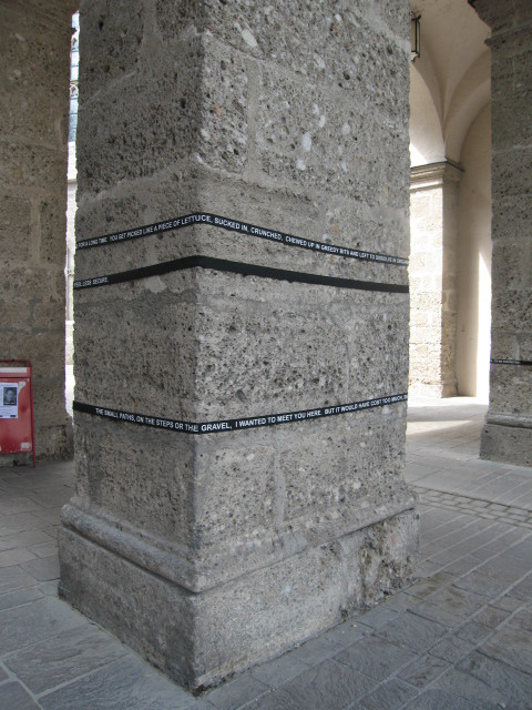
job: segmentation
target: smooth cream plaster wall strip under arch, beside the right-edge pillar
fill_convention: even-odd
[[[491,110],[466,136],[459,192],[457,378],[460,395],[488,400],[491,329]]]

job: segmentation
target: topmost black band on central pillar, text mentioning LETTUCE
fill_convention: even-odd
[[[172,220],[165,220],[163,222],[154,222],[153,224],[137,226],[124,232],[113,232],[111,234],[104,234],[103,236],[96,236],[90,240],[80,240],[76,242],[75,248],[76,251],[81,251],[84,248],[92,248],[94,246],[104,246],[105,244],[117,244],[119,242],[136,240],[152,234],[161,234],[162,232],[168,232],[171,230],[181,230],[182,227],[191,226],[193,224],[205,224],[221,230],[226,230],[228,232],[238,232],[239,234],[256,236],[277,244],[285,244],[286,246],[297,246],[299,248],[310,250],[321,255],[332,254],[335,256],[357,258],[379,264],[408,266],[408,258],[405,258],[403,256],[365,252],[359,248],[349,248],[347,246],[327,244],[326,242],[315,242],[313,240],[295,236],[294,234],[277,232],[275,230],[249,224],[248,222],[239,222],[238,220],[224,217],[219,214],[211,214],[209,212],[193,212],[181,217],[173,217]]]

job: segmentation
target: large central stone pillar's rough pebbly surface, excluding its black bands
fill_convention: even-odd
[[[408,256],[408,2],[81,2],[79,240],[188,212]],[[204,254],[405,266],[194,224],[76,280]],[[349,263],[348,263],[349,262]],[[190,270],[76,292],[75,398],[208,422],[406,392],[408,295]],[[201,437],[75,414],[61,594],[191,688],[411,575],[406,404]]]

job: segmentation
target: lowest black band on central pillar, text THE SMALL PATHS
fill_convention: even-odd
[[[167,429],[171,432],[183,432],[185,434],[214,434],[217,432],[235,432],[243,429],[256,429],[265,426],[276,426],[279,424],[289,424],[295,422],[305,422],[310,419],[320,419],[324,417],[338,416],[349,414],[351,412],[361,412],[365,409],[374,409],[376,407],[385,407],[400,402],[407,402],[407,393],[389,395],[386,397],[375,397],[374,399],[365,399],[362,402],[350,402],[349,404],[339,404],[330,407],[317,407],[315,409],[299,409],[297,412],[284,412],[283,414],[266,414],[257,417],[242,417],[238,419],[219,419],[216,422],[184,422],[181,419],[170,419],[166,417],[155,417],[146,414],[137,414],[135,412],[122,412],[120,409],[110,409],[109,407],[96,407],[95,405],[74,402],[75,412],[83,412],[94,416],[106,417],[114,422],[123,422],[137,424],[140,426],[149,426],[157,429]]]

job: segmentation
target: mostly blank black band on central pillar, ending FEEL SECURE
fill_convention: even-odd
[[[120,284],[136,278],[149,278],[150,276],[160,276],[175,271],[184,271],[187,268],[213,268],[214,271],[223,271],[232,274],[242,274],[244,276],[259,276],[260,278],[275,278],[277,281],[290,281],[303,284],[315,284],[319,286],[334,286],[336,288],[357,288],[361,291],[383,291],[388,293],[408,293],[408,286],[402,284],[385,284],[371,281],[358,281],[355,278],[342,278],[339,276],[321,276],[320,274],[307,274],[304,272],[289,271],[287,268],[272,268],[270,266],[257,266],[256,264],[244,264],[242,262],[232,262],[225,258],[213,258],[212,256],[184,256],[183,258],[174,258],[162,264],[152,264],[151,266],[142,266],[130,271],[119,272],[116,274],[108,274],[105,276],[95,276],[82,281],[74,281],[74,288],[94,288],[96,286],[109,286],[111,284]]]

